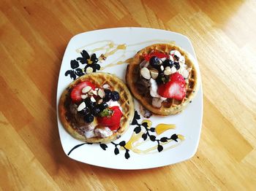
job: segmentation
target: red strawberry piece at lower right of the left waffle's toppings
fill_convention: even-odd
[[[118,106],[110,107],[113,110],[113,114],[108,117],[97,117],[99,125],[104,125],[110,128],[110,130],[116,130],[119,128],[122,112]]]

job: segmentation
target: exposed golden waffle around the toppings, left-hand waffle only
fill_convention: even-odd
[[[68,120],[69,117],[67,116],[67,104],[69,102],[68,100],[70,99],[69,93],[71,92],[72,87],[83,81],[90,81],[97,87],[102,87],[102,85],[108,84],[110,85],[110,90],[116,90],[119,93],[120,98],[118,100],[118,104],[121,106],[123,116],[121,117],[120,128],[118,128],[116,132],[113,131],[112,136],[108,136],[107,138],[93,137],[86,139],[86,136],[78,133],[75,125],[73,125],[72,122]],[[132,95],[129,93],[129,90],[124,82],[113,74],[103,72],[85,74],[82,77],[79,77],[74,82],[72,82],[66,90],[64,90],[59,101],[59,118],[64,128],[75,139],[89,143],[108,143],[118,139],[129,127],[129,122],[132,120],[134,112],[135,106],[133,103]]]

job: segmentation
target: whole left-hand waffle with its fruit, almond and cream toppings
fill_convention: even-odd
[[[113,74],[95,72],[73,81],[61,94],[59,116],[67,132],[88,143],[118,139],[134,115],[132,95]]]

